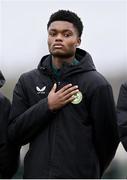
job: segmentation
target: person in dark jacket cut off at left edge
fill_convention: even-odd
[[[0,71],[0,88],[5,79]],[[19,149],[8,143],[7,127],[10,101],[0,93],[0,179],[12,178],[19,163]]]

